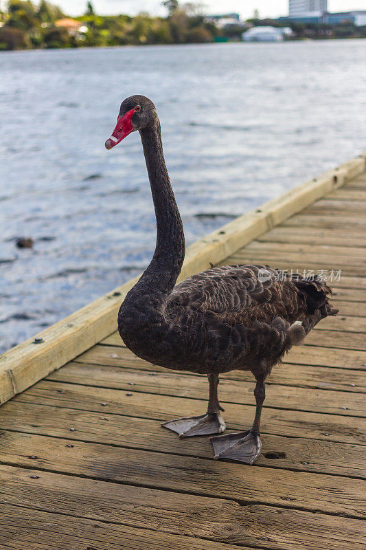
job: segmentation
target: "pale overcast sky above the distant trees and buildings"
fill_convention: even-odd
[[[84,12],[87,0],[52,0],[60,5],[65,13],[79,15]],[[154,15],[164,15],[161,0],[91,0],[95,11],[100,14],[126,13],[135,15],[141,11]],[[181,3],[185,3],[182,0]],[[243,19],[259,10],[260,17],[278,17],[288,14],[288,0],[204,0],[207,13],[239,12]],[[328,0],[330,12],[365,9],[365,0]]]

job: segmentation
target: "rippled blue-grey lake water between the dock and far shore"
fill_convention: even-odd
[[[1,53],[0,349],[150,261],[139,135],[104,148],[126,96],[157,105],[189,244],[366,148],[365,53],[361,40]]]

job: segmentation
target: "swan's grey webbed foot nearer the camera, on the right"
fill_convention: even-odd
[[[215,460],[235,460],[246,464],[253,464],[260,456],[262,441],[257,433],[251,430],[210,437],[214,447]]]

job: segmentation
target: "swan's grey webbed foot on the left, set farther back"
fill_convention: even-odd
[[[193,435],[222,434],[225,430],[225,422],[220,412],[207,412],[198,417],[183,417],[168,420],[161,424],[179,434],[179,437],[190,437]]]

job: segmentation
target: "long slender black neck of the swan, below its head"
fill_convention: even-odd
[[[183,225],[165,166],[159,120],[141,130],[146,167],[157,219],[157,244],[152,261],[137,285],[162,296],[172,292],[185,255]]]

